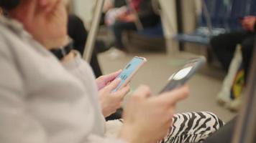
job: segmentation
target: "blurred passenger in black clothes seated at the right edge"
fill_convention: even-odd
[[[241,20],[243,31],[232,31],[211,39],[211,46],[226,71],[234,56],[237,44],[242,45],[243,66],[247,75],[249,61],[256,34],[256,16],[245,16]]]

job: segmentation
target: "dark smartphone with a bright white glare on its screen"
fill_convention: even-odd
[[[170,76],[168,79],[168,84],[160,91],[160,93],[168,92],[178,87],[182,87],[188,79],[190,79],[193,74],[198,71],[206,63],[206,58],[204,56],[200,56],[198,58],[190,59],[186,62],[183,68],[176,71],[174,74]]]

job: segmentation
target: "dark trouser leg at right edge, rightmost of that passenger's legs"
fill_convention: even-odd
[[[247,81],[247,75],[250,69],[250,61],[252,59],[252,51],[254,49],[255,36],[251,36],[247,39],[244,39],[242,42],[242,64],[244,67],[244,77]]]

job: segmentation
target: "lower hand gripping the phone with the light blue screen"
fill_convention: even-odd
[[[99,91],[99,101],[101,104],[101,111],[104,117],[116,112],[122,106],[125,95],[129,92],[129,85],[113,92],[114,89],[119,85],[121,79],[115,79],[109,85],[106,85]]]

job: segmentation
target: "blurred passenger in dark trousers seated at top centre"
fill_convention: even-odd
[[[135,12],[137,14],[135,14]],[[130,0],[129,6],[111,9],[106,14],[106,24],[111,27],[117,49],[127,51],[122,42],[122,33],[125,30],[138,31],[141,23],[143,28],[155,26],[160,21],[160,16],[152,8],[152,0]]]

